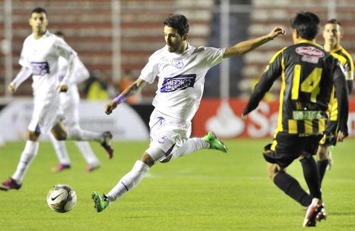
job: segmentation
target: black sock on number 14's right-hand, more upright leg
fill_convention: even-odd
[[[317,163],[313,156],[307,158],[304,157],[300,160],[302,163],[304,180],[309,188],[309,193],[312,197],[322,199],[322,192],[320,192],[320,178],[318,173]]]

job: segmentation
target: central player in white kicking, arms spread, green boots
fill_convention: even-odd
[[[105,107],[105,112],[110,115],[118,104],[158,77],[157,95],[153,101],[155,110],[149,122],[150,146],[108,194],[93,192],[96,211],[101,212],[125,192],[132,190],[157,161],[166,163],[199,149],[227,152],[227,147],[214,133],[209,132],[203,138],[189,138],[191,120],[202,98],[205,74],[223,58],[248,53],[284,33],[284,28],[275,27],[268,35],[228,48],[195,48],[187,42],[188,19],[184,15],[168,16],[164,21],[166,46],[151,55],[139,79]]]

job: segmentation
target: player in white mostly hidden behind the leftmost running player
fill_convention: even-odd
[[[64,33],[62,31],[56,31],[54,33],[58,37],[64,39]],[[68,71],[68,62],[63,57],[58,61],[58,81],[61,82]],[[89,78],[89,71],[85,68],[83,62],[76,56],[73,60],[73,73],[69,80],[69,88],[66,93],[60,94],[60,107],[64,113],[64,126],[65,127],[78,127],[79,123],[79,102],[80,95],[78,92],[78,86],[80,82],[83,82]],[[71,160],[68,155],[67,147],[63,140],[57,140],[52,133],[49,133],[51,142],[55,149],[55,154],[58,157],[59,165],[52,169],[52,172],[60,172],[64,169],[71,167]],[[100,167],[100,160],[95,156],[92,148],[87,141],[76,141],[76,147],[78,147],[80,154],[83,156],[87,163],[86,171],[92,172],[94,169]]]

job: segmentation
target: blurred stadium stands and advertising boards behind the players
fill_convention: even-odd
[[[6,91],[6,86],[19,71],[21,46],[24,38],[31,33],[28,26],[29,12],[35,6],[42,6],[47,10],[48,29],[52,33],[62,30],[67,36],[68,44],[78,52],[80,59],[91,72],[90,79],[80,84],[80,95],[83,99],[88,98],[83,100],[83,104],[90,105],[96,101],[98,106],[86,111],[80,109],[81,114],[85,115],[92,111],[102,111],[105,102],[118,94],[121,86],[137,78],[148,57],[164,46],[162,21],[168,14],[181,13],[187,16],[191,24],[189,43],[192,46],[226,47],[238,41],[264,35],[275,25],[285,26],[285,36],[247,55],[225,59],[207,73],[204,97],[193,121],[194,136],[202,136],[207,130],[214,130],[223,138],[272,135],[277,118],[279,83],[272,87],[266,100],[248,121],[243,122],[239,115],[252,86],[270,57],[277,50],[292,44],[289,19],[295,12],[313,11],[320,17],[322,25],[327,19],[337,18],[345,31],[342,45],[353,57],[355,54],[355,3],[351,0],[300,0],[296,3],[291,0],[4,0],[0,2],[0,108],[3,109],[0,115],[9,104],[18,102],[19,98],[25,102],[21,104],[20,110],[15,110],[16,113],[10,113],[11,120],[8,120],[8,116],[5,122],[0,119],[3,128],[0,136],[5,136],[5,139],[10,128],[5,127],[4,123],[18,127],[22,124],[23,130],[26,131],[24,124],[28,124],[27,120],[31,117],[31,79],[19,87],[14,97]],[[320,31],[317,41],[322,44],[322,40]],[[94,82],[98,83],[95,85],[98,87],[90,89]],[[150,103],[155,90],[156,84],[151,84],[138,98],[130,102],[130,107],[135,109],[145,124],[153,109]],[[354,104],[352,99],[352,112],[349,116],[351,136],[355,136]],[[26,116],[22,116],[24,114]],[[103,121],[100,118],[94,122],[83,118],[82,122],[83,127],[97,124],[99,129]],[[110,122],[112,121],[106,121],[108,127]],[[130,122],[132,123],[128,121]],[[125,136],[127,131],[124,129],[117,124],[118,139],[139,140],[146,137]],[[15,140],[22,138],[23,135],[18,135]]]

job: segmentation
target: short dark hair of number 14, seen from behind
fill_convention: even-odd
[[[319,30],[319,18],[312,12],[302,11],[291,19],[292,28],[296,29],[300,37],[312,40],[317,36]]]

